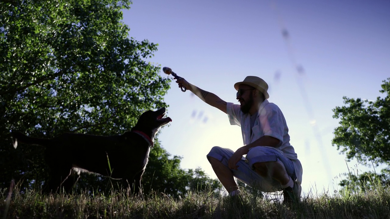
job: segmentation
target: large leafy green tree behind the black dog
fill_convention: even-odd
[[[1,188],[8,187],[11,178],[28,188],[47,177],[43,147],[21,145],[14,150],[11,130],[41,138],[63,132],[121,134],[142,112],[167,107],[163,96],[170,79],[158,74],[159,66],[145,61],[157,44],[129,37],[129,27],[122,23],[122,10],[130,4],[130,0],[0,3]],[[156,144],[144,180],[156,189],[184,185],[188,178],[175,178],[185,173],[179,162]],[[159,178],[148,178],[154,176],[149,168]],[[79,185],[103,189],[109,183],[89,175]]]

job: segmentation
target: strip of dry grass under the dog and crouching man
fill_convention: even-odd
[[[390,191],[376,186],[371,191],[345,191],[303,197],[300,203],[284,205],[279,194],[243,191],[240,198],[215,195],[212,192],[188,192],[172,198],[152,192],[144,197],[127,191],[110,194],[41,195],[14,189],[12,199],[5,189],[0,194],[2,218],[380,218],[390,219]]]

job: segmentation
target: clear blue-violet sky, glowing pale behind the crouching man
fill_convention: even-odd
[[[264,79],[303,166],[302,195],[333,193],[342,173],[374,170],[347,162],[332,146],[339,125],[332,109],[344,106],[343,96],[383,96],[382,81],[390,77],[390,1],[133,0],[123,22],[130,37],[159,44],[147,60],[172,79],[164,97],[172,122],[158,140],[182,157],[181,168],[200,167],[216,178],[206,154],[214,146],[236,150],[243,140],[239,126],[182,92],[162,72],[165,66],[236,104],[234,83],[249,75]]]

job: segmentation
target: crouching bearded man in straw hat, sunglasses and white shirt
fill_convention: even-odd
[[[215,94],[177,79],[207,104],[227,113],[231,125],[241,126],[244,146],[233,152],[229,148],[213,147],[207,159],[231,196],[240,190],[238,178],[263,192],[282,191],[284,202],[299,201],[302,166],[290,145],[287,124],[276,104],[268,102],[268,84],[256,76],[247,76],[234,84],[240,105],[225,102]],[[246,154],[246,157],[243,155]]]

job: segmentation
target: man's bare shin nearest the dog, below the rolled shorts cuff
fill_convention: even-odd
[[[232,191],[236,191],[238,186],[236,181],[234,181],[232,170],[214,157],[209,157],[209,162],[211,167],[213,167],[215,175],[218,177],[227,192],[230,194]]]

